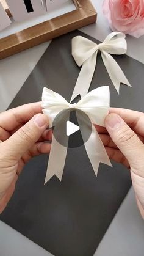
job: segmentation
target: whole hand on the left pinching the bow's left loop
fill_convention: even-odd
[[[40,103],[31,103],[0,114],[0,213],[15,190],[18,176],[33,156],[49,153],[48,117]]]

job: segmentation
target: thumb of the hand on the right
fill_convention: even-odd
[[[113,142],[128,159],[131,169],[143,177],[144,145],[137,134],[117,114],[107,115],[105,125]]]

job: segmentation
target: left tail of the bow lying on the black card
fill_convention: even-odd
[[[78,95],[80,95],[82,98],[88,93],[93,74],[95,72],[97,54],[98,51],[93,53],[93,55],[85,60],[84,64],[82,65],[70,102],[73,101]]]

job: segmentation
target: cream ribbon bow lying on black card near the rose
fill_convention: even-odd
[[[106,37],[104,42],[99,43],[99,45],[81,36],[72,39],[72,55],[77,65],[79,67],[82,66],[82,68],[71,101],[73,101],[77,95],[81,95],[82,98],[87,94],[95,72],[98,51],[101,51],[104,65],[117,92],[119,93],[121,83],[131,87],[131,84],[129,84],[120,66],[110,55],[126,53],[127,43],[125,37],[126,36],[121,32],[112,32]]]

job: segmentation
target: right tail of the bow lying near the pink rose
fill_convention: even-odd
[[[101,51],[101,57],[103,59],[107,73],[109,74],[117,92],[119,93],[121,83],[131,87],[131,84],[129,83],[128,79],[124,75],[115,59],[113,59],[113,57],[106,51]]]

